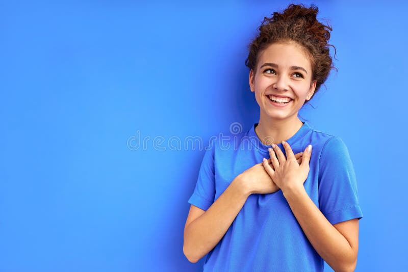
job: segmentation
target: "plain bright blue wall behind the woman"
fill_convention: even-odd
[[[289,3],[2,1],[0,270],[200,271],[182,248],[205,150],[168,140],[258,122],[246,45]],[[334,29],[338,73],[300,115],[349,149],[356,271],[403,270],[408,4],[302,3]]]

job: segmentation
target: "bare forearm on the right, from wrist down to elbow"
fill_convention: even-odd
[[[317,253],[335,271],[350,271],[355,267],[356,254],[347,239],[326,219],[304,188],[284,193],[304,234]]]

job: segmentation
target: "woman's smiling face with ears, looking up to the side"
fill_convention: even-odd
[[[303,103],[312,97],[316,80],[312,80],[311,63],[298,44],[273,43],[260,53],[256,74],[250,70],[249,85],[261,116],[283,120],[297,117]]]

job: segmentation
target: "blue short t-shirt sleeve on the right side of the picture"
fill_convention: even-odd
[[[319,165],[319,208],[326,219],[332,225],[362,219],[353,164],[341,138],[327,140]]]

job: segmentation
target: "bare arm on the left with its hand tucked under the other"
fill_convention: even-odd
[[[302,153],[295,155],[299,164]],[[270,159],[267,162],[270,162]],[[212,171],[207,171],[207,173],[212,173]],[[207,176],[199,179],[199,181],[207,179],[212,179],[212,177],[208,178]],[[211,183],[200,184],[208,185]],[[204,186],[202,185],[202,187]],[[197,262],[221,240],[249,195],[270,194],[278,191],[278,189],[264,170],[263,164],[259,163],[238,175],[211,206],[210,204],[201,206],[205,208],[208,205],[207,211],[192,205],[184,227],[184,255],[189,261]],[[201,192],[210,191],[214,193],[214,188]],[[207,199],[211,198],[213,195],[207,196]]]

